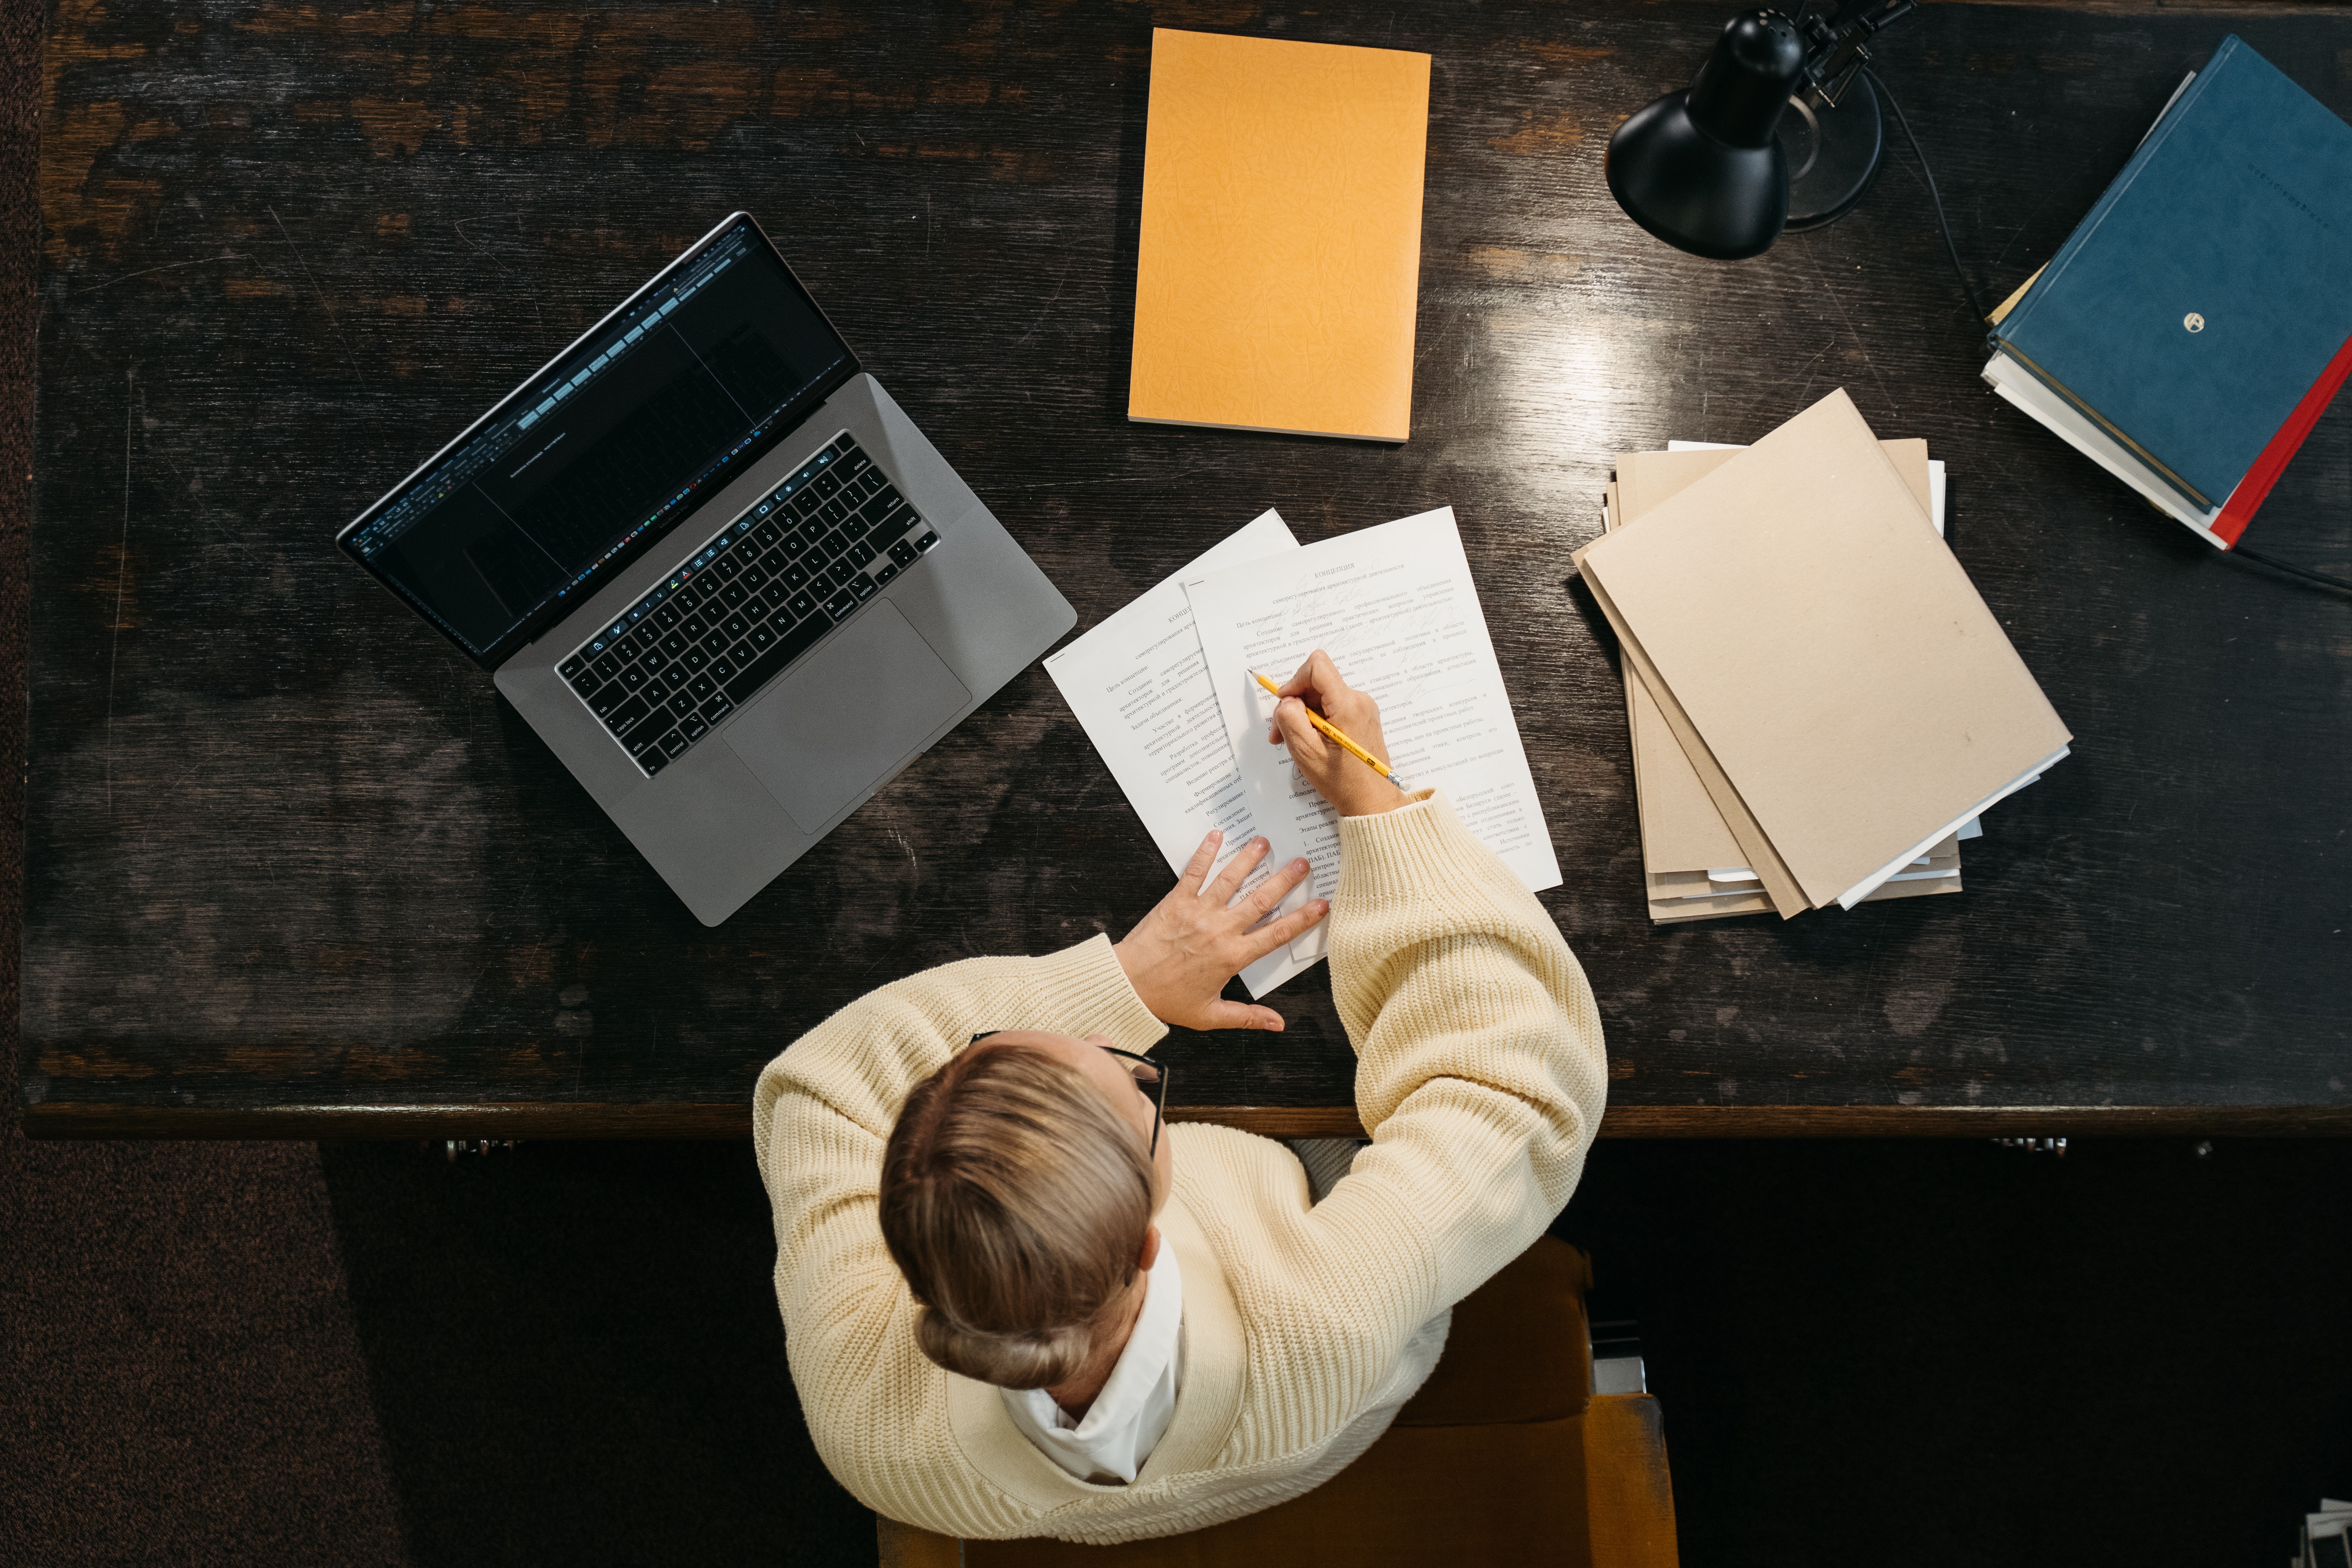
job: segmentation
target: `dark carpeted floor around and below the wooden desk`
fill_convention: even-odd
[[[0,0],[0,689],[40,5]],[[24,703],[0,816],[24,818]],[[0,835],[14,1065],[19,835]],[[870,1563],[743,1147],[0,1133],[0,1563]],[[2352,1493],[2352,1145],[1602,1145],[1684,1561],[2277,1568]]]

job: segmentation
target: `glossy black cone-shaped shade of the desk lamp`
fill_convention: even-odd
[[[1686,92],[1644,106],[1609,136],[1609,195],[1677,249],[1740,261],[1788,221],[1788,153],[1776,132],[1804,73],[1804,40],[1778,12],[1724,24]]]

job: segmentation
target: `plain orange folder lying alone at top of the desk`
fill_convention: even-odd
[[[1152,28],[1127,416],[1402,442],[1430,56]]]

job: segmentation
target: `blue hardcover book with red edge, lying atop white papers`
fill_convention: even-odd
[[[2237,543],[2352,371],[2352,127],[2225,38],[1992,346]]]

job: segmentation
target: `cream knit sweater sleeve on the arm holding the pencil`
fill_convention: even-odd
[[[1331,992],[1371,1150],[1317,1215],[1376,1248],[1357,1269],[1388,1300],[1367,1305],[1409,1333],[1576,1190],[1606,1100],[1599,1011],[1552,917],[1435,792],[1341,820]]]

